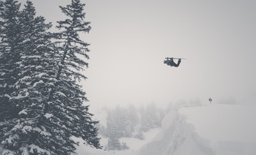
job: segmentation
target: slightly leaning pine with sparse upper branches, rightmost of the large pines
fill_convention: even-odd
[[[85,92],[81,85],[77,84],[82,78],[81,74],[84,66],[88,63],[84,59],[89,59],[87,52],[88,43],[79,38],[79,33],[88,33],[91,29],[90,22],[84,22],[83,12],[85,4],[79,0],[72,0],[66,7],[60,6],[61,11],[67,19],[58,21],[58,33],[56,47],[58,47],[58,73],[55,83],[56,89],[51,92],[53,115],[65,128],[65,134],[70,139],[71,136],[81,137],[90,145],[100,148],[98,130],[95,128],[97,121],[92,121],[92,114],[88,112]],[[61,110],[61,112],[60,112]],[[67,148],[72,148],[74,142],[69,142]]]

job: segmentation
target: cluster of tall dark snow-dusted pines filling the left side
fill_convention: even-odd
[[[79,80],[88,66],[84,4],[72,0],[51,23],[36,16],[31,1],[0,1],[0,145],[3,154],[72,154],[81,137],[100,148]]]

